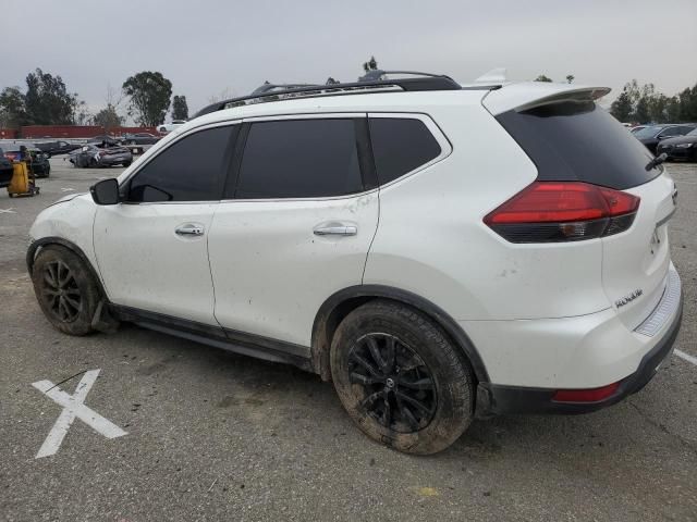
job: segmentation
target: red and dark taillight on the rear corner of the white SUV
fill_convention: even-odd
[[[592,239],[624,232],[639,198],[582,182],[535,182],[484,222],[511,243]]]

